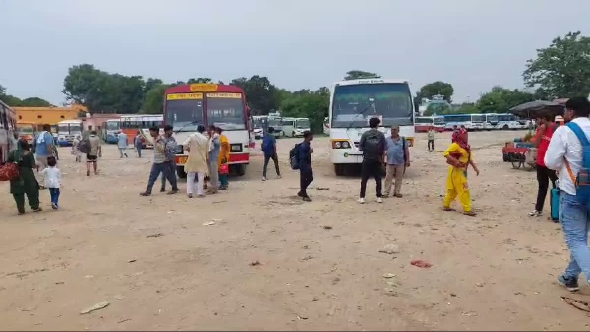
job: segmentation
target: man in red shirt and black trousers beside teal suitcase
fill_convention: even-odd
[[[537,119],[539,128],[537,128],[537,135],[531,139],[537,147],[537,182],[539,183],[539,191],[537,192],[537,204],[535,210],[529,213],[529,217],[540,217],[543,215],[543,205],[545,205],[545,196],[547,196],[547,189],[549,187],[549,180],[555,188],[555,180],[557,175],[555,171],[550,170],[545,166],[545,154],[549,147],[549,142],[553,136],[553,131],[556,126],[551,115],[545,115],[543,118]]]

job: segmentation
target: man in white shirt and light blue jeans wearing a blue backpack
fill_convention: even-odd
[[[590,102],[585,97],[574,97],[565,104],[563,119],[578,125],[586,138],[590,139]],[[578,276],[581,272],[590,279],[590,249],[588,248],[588,206],[585,201],[576,200],[576,187],[573,176],[582,167],[582,144],[572,129],[559,126],[553,132],[549,148],[545,154],[545,165],[558,172],[559,222],[565,233],[565,242],[571,252],[568,267],[563,275],[558,276],[559,284],[569,291],[577,291]],[[568,170],[568,167],[570,170]]]

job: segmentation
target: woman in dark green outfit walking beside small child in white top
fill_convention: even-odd
[[[18,164],[18,178],[10,180],[10,193],[17,202],[18,214],[25,213],[25,194],[34,212],[41,211],[39,207],[39,184],[35,179],[33,168],[36,167],[35,157],[27,141],[20,139],[18,148],[8,155],[9,162]]]

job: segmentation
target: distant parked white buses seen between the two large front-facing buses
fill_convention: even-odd
[[[273,127],[273,136],[276,138],[300,137],[311,128],[309,118],[281,118],[276,115],[255,115],[252,118],[255,139],[263,136],[264,128]]]

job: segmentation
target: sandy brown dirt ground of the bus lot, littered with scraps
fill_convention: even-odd
[[[158,182],[152,197],[138,195],[149,150],[119,160],[107,145],[100,174],[86,177],[60,148],[60,210],[42,191],[44,211],[17,216],[0,183],[0,329],[587,331],[588,315],[560,296],[587,300],[590,288],[581,278],[571,295],[555,282],[569,259],[559,224],[526,217],[535,172],[501,161],[503,142],[523,134],[470,134],[476,218],[441,211],[448,133],[436,153],[418,134],[404,198],[375,203],[369,181],[365,205],[358,176],[334,175],[327,138],[312,143],[311,203],[287,167],[298,139],[278,141],[282,179],[271,162],[260,180],[257,151],[230,190],[192,199],[184,180],[182,194],[160,194]],[[378,252],[390,243],[398,253]],[[110,305],[80,314],[101,301]]]

